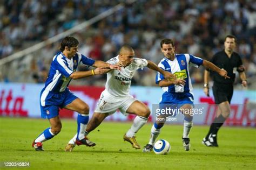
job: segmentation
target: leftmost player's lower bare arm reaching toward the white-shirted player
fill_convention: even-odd
[[[85,72],[73,72],[70,77],[71,79],[82,79],[84,77],[92,76],[92,75],[99,75],[99,74],[104,74],[106,71],[109,70],[109,68],[102,68],[98,67],[96,69],[92,69],[89,71]]]

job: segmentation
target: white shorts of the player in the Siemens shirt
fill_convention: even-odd
[[[114,97],[103,93],[100,95],[95,112],[113,114],[117,109],[126,116],[126,110],[136,99],[127,95],[125,97]]]

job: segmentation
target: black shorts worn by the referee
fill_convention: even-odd
[[[233,91],[234,91],[233,83],[214,82],[212,91],[213,91],[215,104],[220,104],[226,101],[230,103],[233,96]]]

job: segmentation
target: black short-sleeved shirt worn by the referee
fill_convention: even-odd
[[[223,51],[220,51],[213,55],[212,63],[218,66],[219,68],[223,68],[227,71],[227,76],[230,79],[225,79],[221,77],[218,73],[212,72],[211,75],[213,77],[213,81],[216,83],[233,83],[235,79],[235,72],[244,72],[242,67],[242,60],[240,55],[236,52],[231,54],[231,57],[228,58],[227,54]]]

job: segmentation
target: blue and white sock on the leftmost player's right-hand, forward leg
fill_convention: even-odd
[[[86,125],[89,121],[89,115],[78,114],[77,116],[77,140],[82,140],[85,137]]]

